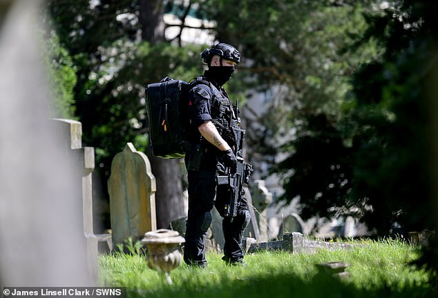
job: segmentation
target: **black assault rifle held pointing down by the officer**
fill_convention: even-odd
[[[231,138],[234,139],[235,146],[233,148],[234,155],[237,159],[237,170],[231,173],[229,169],[226,170],[226,175],[217,176],[218,186],[227,185],[231,192],[229,202],[225,203],[225,208],[222,210],[224,217],[229,217],[233,221],[237,215],[238,199],[243,192],[243,185],[248,185],[249,176],[253,171],[249,163],[245,163],[243,159],[243,141],[245,140],[245,130],[238,126],[238,103],[236,103],[236,119],[233,119],[233,109],[231,108],[231,115],[229,121],[229,132]]]

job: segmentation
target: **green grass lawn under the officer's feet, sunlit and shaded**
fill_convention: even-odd
[[[400,241],[361,241],[351,250],[314,254],[257,252],[247,266],[226,266],[209,253],[207,269],[182,264],[171,272],[173,285],[149,269],[144,256],[114,253],[99,257],[102,286],[126,287],[128,297],[438,297],[428,275],[409,266],[417,248]],[[350,277],[318,273],[315,264],[345,261]]]

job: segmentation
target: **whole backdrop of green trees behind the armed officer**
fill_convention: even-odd
[[[303,217],[355,215],[379,234],[395,221],[412,229],[430,224],[424,80],[435,65],[435,4],[148,3],[178,14],[180,32],[189,14],[215,21],[216,28],[204,30],[242,52],[227,86],[231,98],[243,104],[251,89],[267,99],[262,113],[245,106],[255,115],[247,122],[249,159],[256,166],[270,163],[283,179],[283,199],[300,197]],[[141,40],[147,21],[142,4],[48,1],[59,43],[77,75],[73,92],[84,142],[96,148],[104,181],[124,143],[146,149],[146,84],[166,75],[189,80],[202,72],[203,47],[182,45],[180,35],[175,43]]]

